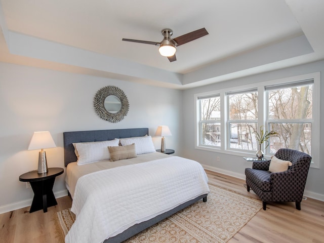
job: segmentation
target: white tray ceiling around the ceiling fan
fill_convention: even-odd
[[[322,0],[0,0],[0,61],[186,89],[324,59]],[[153,45],[205,27],[169,62]]]

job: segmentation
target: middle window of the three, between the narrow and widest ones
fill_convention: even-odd
[[[237,150],[257,150],[253,133],[258,127],[257,89],[227,92],[229,148]]]

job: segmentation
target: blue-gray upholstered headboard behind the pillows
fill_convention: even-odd
[[[106,141],[115,138],[142,137],[148,135],[148,128],[77,131],[63,133],[64,165],[76,161],[72,143]]]

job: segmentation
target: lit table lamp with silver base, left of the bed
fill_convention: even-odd
[[[56,147],[55,142],[49,131],[34,132],[29,143],[28,150],[41,149],[38,154],[38,174],[47,173],[46,152],[44,148]]]

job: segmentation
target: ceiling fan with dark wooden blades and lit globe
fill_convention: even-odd
[[[188,42],[194,41],[197,38],[203,37],[208,34],[205,28],[197,29],[187,34],[183,34],[176,38],[171,38],[173,34],[172,29],[163,29],[162,35],[164,36],[161,42],[149,42],[149,41],[139,41],[138,39],[126,39],[123,38],[123,41],[126,42],[137,42],[143,44],[150,44],[159,46],[158,51],[162,56],[168,57],[170,62],[176,61],[176,47],[186,44]]]

